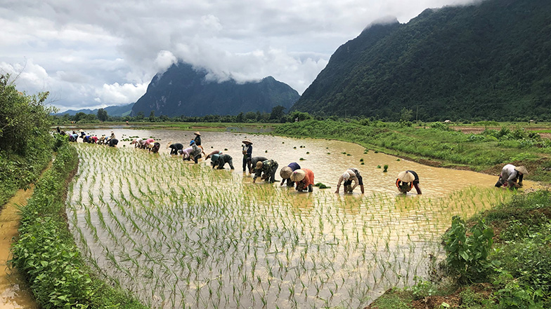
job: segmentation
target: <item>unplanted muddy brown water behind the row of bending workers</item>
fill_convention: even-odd
[[[86,134],[110,135],[112,130],[91,130]],[[160,153],[168,154],[167,144],[181,143],[188,147],[191,139],[195,137],[191,131],[177,130],[128,130],[115,129],[119,147],[134,147],[130,137],[153,137],[162,144]],[[296,162],[301,167],[309,168],[314,172],[317,182],[322,182],[332,188],[336,187],[339,176],[348,168],[356,167],[360,170],[365,184],[365,194],[391,193],[399,195],[394,183],[396,175],[403,170],[415,170],[420,177],[420,187],[423,195],[439,196],[451,191],[466,188],[468,186],[491,187],[498,180],[498,175],[481,174],[465,170],[450,170],[441,167],[430,167],[410,160],[403,160],[384,153],[375,153],[358,144],[339,142],[330,139],[294,139],[288,137],[275,137],[271,135],[254,135],[233,132],[202,132],[202,146],[205,153],[214,150],[223,151],[233,158],[235,173],[242,172],[241,141],[245,138],[253,142],[252,156],[264,156],[278,162],[279,168]],[[82,139],[79,139],[82,142]],[[304,160],[302,160],[304,159]],[[361,160],[363,159],[363,165]],[[387,172],[383,172],[384,165],[389,165]],[[226,165],[226,169],[228,165]],[[279,170],[279,169],[278,169]],[[248,176],[248,173],[247,173]],[[276,179],[280,179],[279,172]],[[539,188],[533,181],[524,181],[525,189]],[[342,187],[341,187],[342,190]],[[355,194],[359,192],[356,188]],[[409,195],[415,195],[415,190]]]

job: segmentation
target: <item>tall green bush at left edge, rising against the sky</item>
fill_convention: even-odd
[[[44,107],[49,92],[25,95],[10,83],[9,74],[0,74],[0,150],[25,154],[34,139],[46,140],[52,123]]]

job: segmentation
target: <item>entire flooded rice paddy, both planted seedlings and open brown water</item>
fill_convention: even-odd
[[[161,152],[129,142],[116,149],[77,144],[81,160],[67,215],[91,265],[153,308],[363,308],[387,288],[427,274],[453,215],[468,217],[512,195],[494,188],[491,175],[346,142],[203,132],[206,153],[233,157],[235,170],[212,170],[165,148],[189,144],[193,132],[115,134],[121,141],[160,139]],[[252,184],[241,167],[245,138],[254,143],[253,156],[279,167],[297,162],[331,188],[297,193],[278,181]],[[365,194],[335,193],[347,167],[360,170]],[[394,182],[403,170],[419,174],[422,195],[398,193]]]

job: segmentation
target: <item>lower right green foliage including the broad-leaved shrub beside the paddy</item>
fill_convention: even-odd
[[[491,233],[488,226],[481,222],[486,222],[491,229],[498,231],[487,259],[482,257],[486,256]],[[472,233],[466,233],[467,226],[472,226]],[[447,266],[453,266],[455,273],[469,267],[477,268],[477,272],[471,273],[477,276],[465,276],[463,280],[451,284],[417,280],[413,287],[384,294],[370,308],[410,308],[413,300],[433,295],[459,296],[459,308],[551,308],[550,235],[550,191],[517,194],[511,202],[479,214],[467,223],[454,219],[452,227],[444,236],[448,251]],[[471,246],[466,245],[468,239],[471,239]],[[450,240],[465,241],[457,246],[460,249],[452,250],[449,249],[452,243]],[[475,242],[480,243],[472,246]],[[462,256],[458,258],[456,253],[461,248],[465,253],[457,254]],[[480,259],[470,259],[471,256]],[[454,266],[458,259],[462,259],[461,263],[465,264],[463,267]],[[486,283],[472,284],[471,280],[479,280],[483,273]]]

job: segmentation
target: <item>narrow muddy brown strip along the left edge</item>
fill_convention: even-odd
[[[8,201],[4,210],[0,212],[0,308],[39,308],[34,302],[25,280],[17,270],[9,268],[7,261],[11,259],[10,247],[18,235],[20,214],[15,205],[27,205],[33,188],[27,191],[19,190]]]

